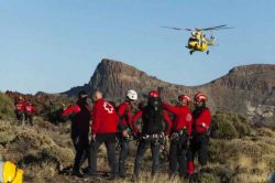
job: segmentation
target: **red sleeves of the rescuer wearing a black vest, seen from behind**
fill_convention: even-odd
[[[132,127],[134,129],[135,134],[138,134],[140,132],[135,126],[135,122],[138,121],[139,118],[141,118],[144,115],[144,111],[145,111],[144,109],[141,109],[133,117]],[[170,131],[172,121],[170,121],[168,114],[165,110],[163,110],[163,117],[164,117],[164,121],[166,122],[166,129],[164,132],[166,136],[168,136],[169,131]],[[143,122],[145,122],[145,121],[143,121]],[[144,128],[144,125],[143,125],[143,128]]]

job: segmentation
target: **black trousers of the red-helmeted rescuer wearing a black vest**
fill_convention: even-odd
[[[158,171],[161,144],[156,143],[155,140],[143,139],[139,143],[136,155],[135,155],[135,162],[134,162],[134,176],[135,177],[139,177],[139,175],[140,175],[141,162],[142,162],[144,153],[148,147],[151,147],[151,153],[152,153],[152,159],[153,159],[151,173],[152,173],[152,175],[155,175]]]

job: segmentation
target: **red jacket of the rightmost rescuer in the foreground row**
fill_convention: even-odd
[[[193,130],[195,133],[207,132],[211,125],[211,114],[208,108],[204,108],[200,111],[195,110],[193,112],[194,122]]]

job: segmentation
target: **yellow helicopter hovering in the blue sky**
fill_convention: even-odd
[[[191,32],[191,36],[189,37],[186,47],[190,50],[190,55],[196,52],[205,52],[207,54],[209,54],[209,50],[208,46],[213,46],[217,45],[216,44],[216,39],[215,36],[211,34],[211,36],[208,39],[206,36],[206,34],[204,33],[204,31],[217,31],[217,30],[221,30],[221,29],[232,29],[227,26],[226,24],[223,25],[219,25],[219,26],[211,26],[211,28],[205,28],[205,29],[180,29],[180,28],[173,28],[173,26],[162,26],[162,28],[167,28],[167,29],[173,29],[176,31],[189,31]]]

